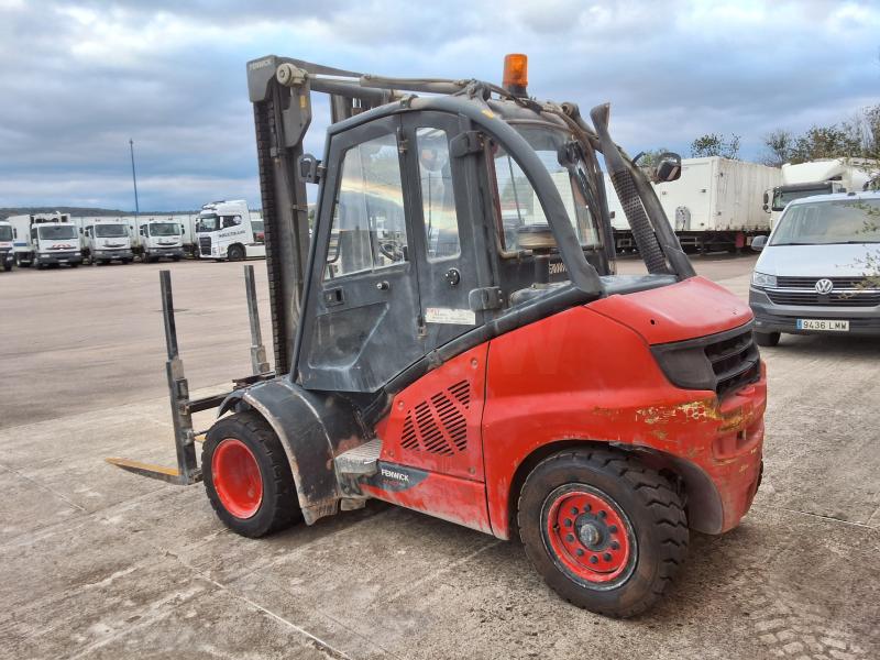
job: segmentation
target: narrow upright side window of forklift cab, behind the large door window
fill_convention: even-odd
[[[459,256],[459,218],[449,163],[449,140],[442,129],[417,129],[419,185],[428,260]]]

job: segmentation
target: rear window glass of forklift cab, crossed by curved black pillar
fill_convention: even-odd
[[[581,187],[572,177],[572,173],[559,162],[559,153],[571,136],[564,131],[549,127],[513,123],[512,125],[531,145],[550,174],[550,178],[553,179],[581,245],[598,248],[601,241],[596,219],[590,212]],[[497,147],[494,157],[498,201],[504,223],[504,249],[517,251],[518,230],[531,224],[548,224],[548,220],[535,188],[517,162],[501,147]]]

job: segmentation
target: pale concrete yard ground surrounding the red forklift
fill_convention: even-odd
[[[746,295],[754,257],[695,262]],[[751,513],[694,535],[667,597],[617,622],[560,601],[518,543],[378,503],[249,540],[201,486],[105,463],[174,461],[160,267],[190,386],[246,374],[240,264],[0,273],[0,657],[880,657],[880,342],[762,351]]]

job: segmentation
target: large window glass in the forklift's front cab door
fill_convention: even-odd
[[[387,134],[343,156],[324,279],[393,266],[407,256],[397,139]]]

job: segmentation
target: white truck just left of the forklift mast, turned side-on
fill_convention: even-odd
[[[199,258],[241,261],[266,256],[266,246],[254,230],[243,199],[212,201],[201,207],[196,235]]]

